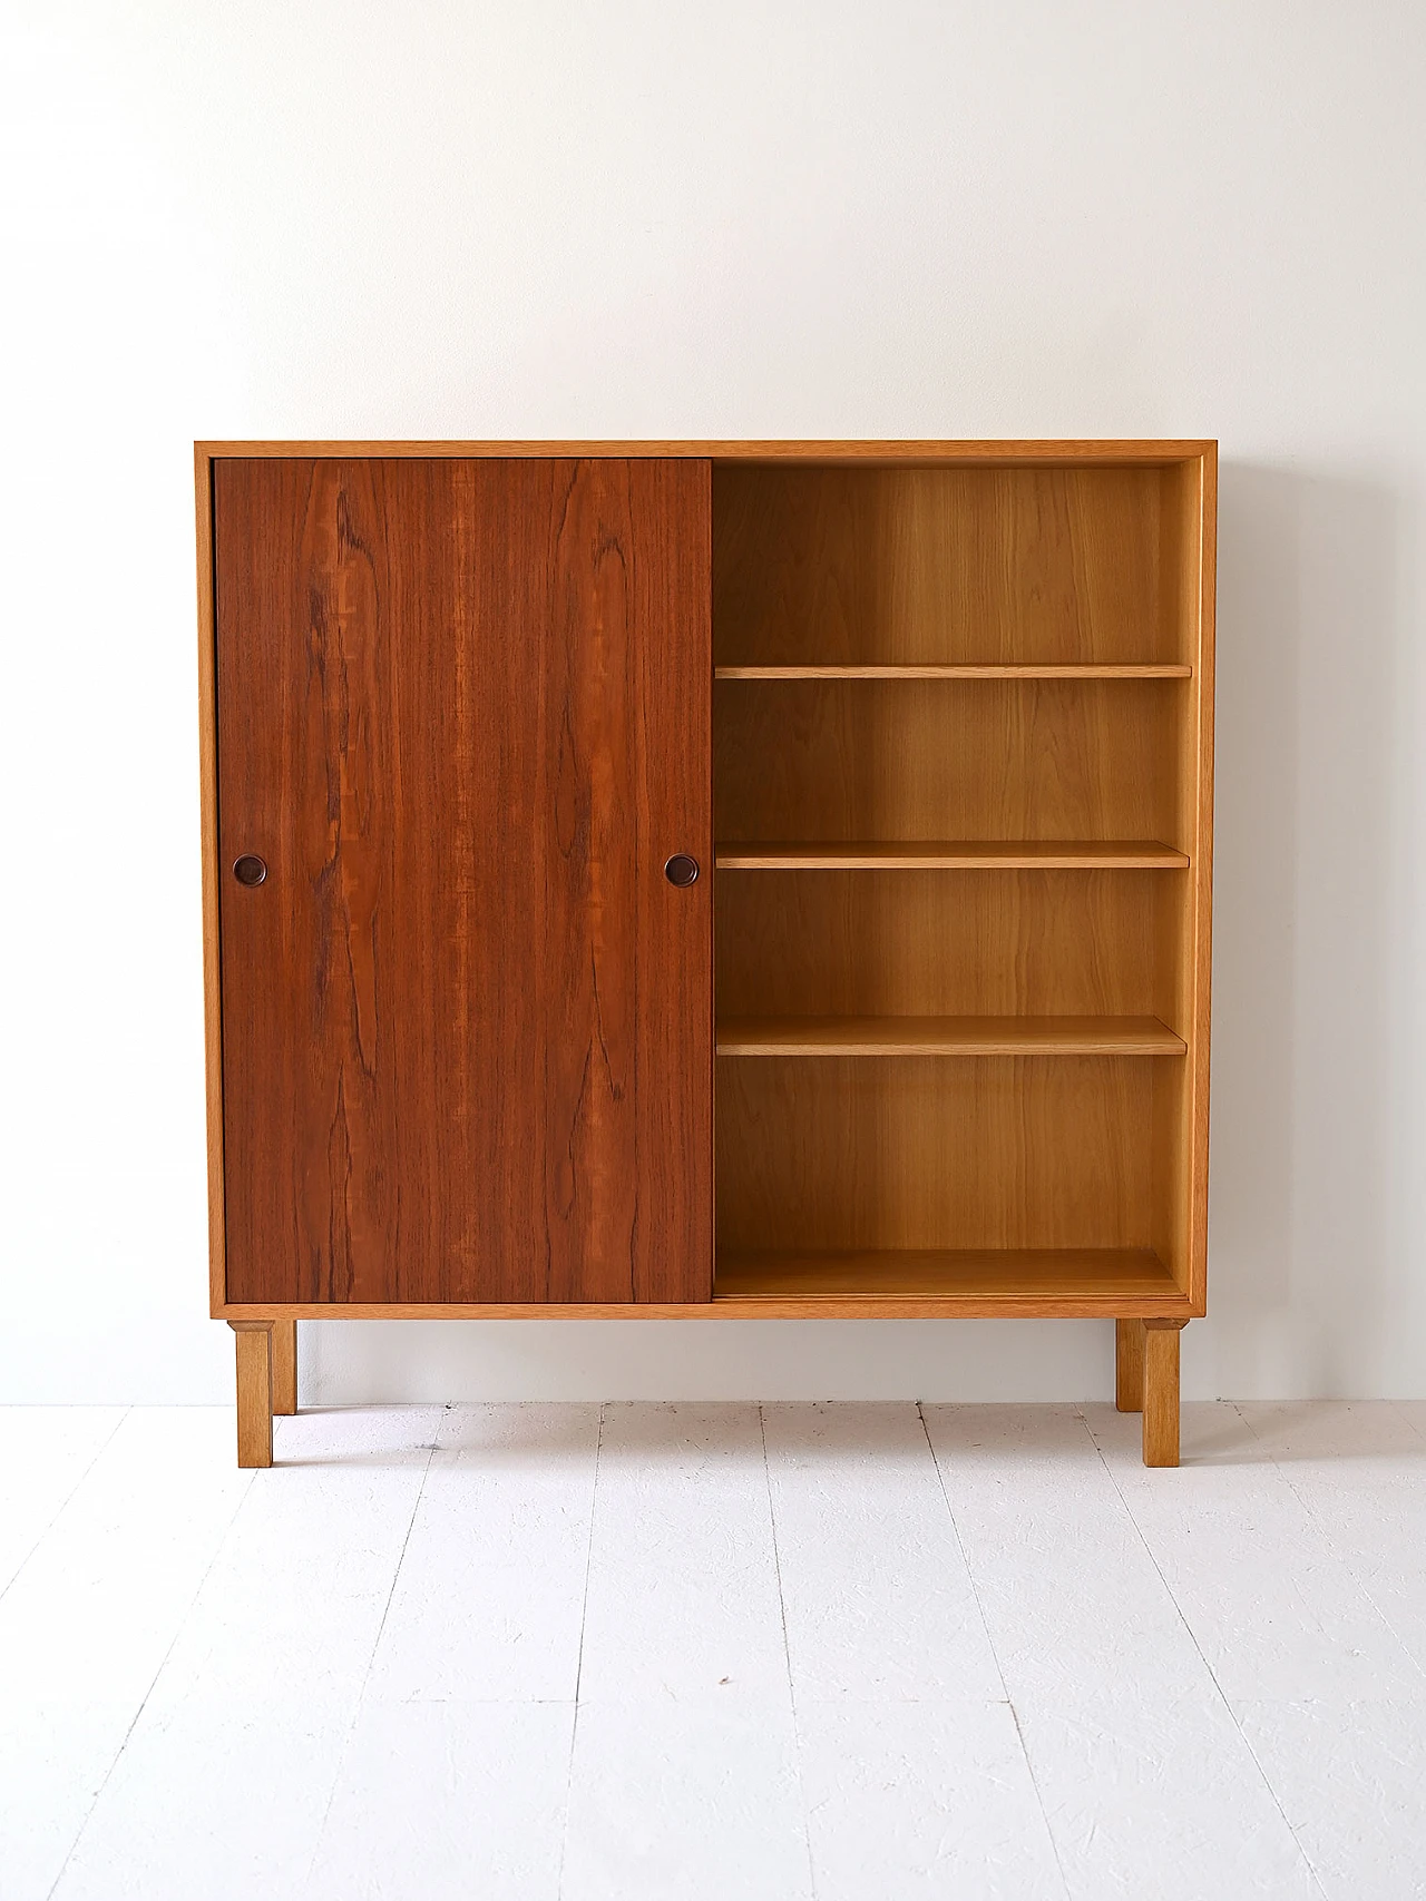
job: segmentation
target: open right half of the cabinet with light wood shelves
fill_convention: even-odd
[[[715,462],[715,1300],[1204,1312],[1188,447]]]

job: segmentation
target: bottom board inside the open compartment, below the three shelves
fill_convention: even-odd
[[[1148,1249],[863,1253],[719,1251],[713,1300],[897,1312],[935,1304],[962,1315],[1186,1317],[1188,1296]]]

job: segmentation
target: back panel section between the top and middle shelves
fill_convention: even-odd
[[[1181,846],[1183,682],[721,681],[713,694],[719,840]]]

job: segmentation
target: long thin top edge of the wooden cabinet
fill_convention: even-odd
[[[1190,462],[1217,452],[1198,441],[738,441],[738,443],[194,443],[221,456],[709,456],[713,462]]]

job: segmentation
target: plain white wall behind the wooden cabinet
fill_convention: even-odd
[[[1213,1317],[1426,1393],[1426,10],[46,0],[0,49],[0,1395],[205,1399],[190,443],[1219,435]],[[1101,1323],[304,1329],[308,1399],[1084,1397]]]

